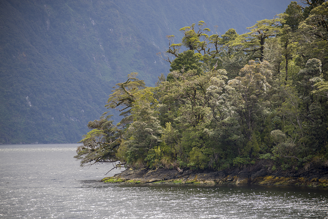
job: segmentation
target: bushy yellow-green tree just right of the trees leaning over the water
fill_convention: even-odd
[[[133,118],[133,122],[128,124],[122,136],[124,141],[121,147],[124,151],[120,151],[130,166],[146,166],[148,151],[161,142],[162,127],[158,120],[158,101],[154,97],[156,90],[158,87],[147,87],[133,93],[129,116]]]

